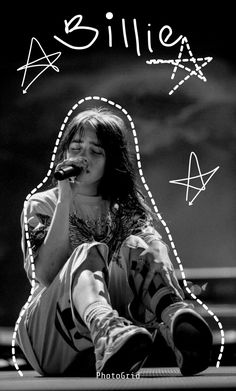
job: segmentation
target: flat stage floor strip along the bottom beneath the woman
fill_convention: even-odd
[[[183,377],[178,368],[143,368],[136,379],[41,377],[34,371],[0,372],[0,390],[236,390],[236,367],[210,367]]]

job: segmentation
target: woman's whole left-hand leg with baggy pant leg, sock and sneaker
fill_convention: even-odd
[[[88,349],[94,349],[96,369],[104,373],[128,372],[148,354],[150,333],[110,306],[106,253],[101,243],[79,246],[28,307],[19,331],[27,333],[40,373],[84,374]],[[19,340],[26,351],[25,339]]]

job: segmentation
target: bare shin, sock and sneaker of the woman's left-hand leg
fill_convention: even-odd
[[[99,246],[93,246],[73,276],[77,320],[90,332],[98,372],[134,372],[147,356],[152,338],[145,328],[132,325],[113,310],[107,283],[106,260]]]

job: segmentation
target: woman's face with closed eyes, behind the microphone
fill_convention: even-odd
[[[67,150],[67,159],[85,160],[87,169],[83,170],[77,179],[81,184],[98,184],[103,177],[106,155],[98,141],[96,130],[86,124],[82,132],[77,132]]]

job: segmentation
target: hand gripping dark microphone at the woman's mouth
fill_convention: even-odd
[[[65,160],[59,163],[54,172],[54,178],[58,181],[63,181],[70,177],[78,176],[88,167],[87,159]]]

